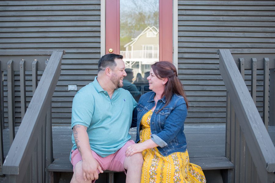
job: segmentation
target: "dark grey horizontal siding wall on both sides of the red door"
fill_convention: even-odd
[[[226,88],[219,73],[217,49],[275,48],[275,2],[175,2],[178,3],[178,73],[190,104],[186,122],[222,124],[226,116]],[[0,50],[66,51],[52,99],[54,125],[71,123],[71,101],[76,91],[68,91],[68,84],[77,84],[79,90],[97,74],[101,50],[100,3],[100,0],[0,1]],[[248,85],[249,77],[246,71]],[[6,86],[4,89],[6,94]],[[26,90],[31,95],[30,82]],[[260,88],[257,93],[260,100]],[[6,112],[7,99],[4,100]],[[261,102],[257,105],[261,110]],[[16,111],[19,122],[20,108]]]

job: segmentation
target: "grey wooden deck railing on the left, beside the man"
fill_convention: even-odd
[[[11,147],[2,173],[9,182],[49,182],[46,167],[53,161],[51,99],[61,72],[64,51],[0,52],[1,61],[1,129],[0,158],[3,161],[2,129],[4,124],[3,72],[7,71],[8,124]],[[51,56],[49,56],[51,55]],[[44,62],[46,58],[49,60]],[[24,60],[24,58],[27,58]],[[36,59],[37,58],[37,59]],[[7,67],[5,65],[7,64]],[[45,68],[46,64],[46,68]],[[45,70],[44,70],[45,68]],[[26,110],[25,71],[32,71],[33,97]],[[38,84],[38,70],[44,70]],[[14,71],[20,71],[22,121],[17,134],[15,126]],[[2,166],[1,166],[2,167]]]

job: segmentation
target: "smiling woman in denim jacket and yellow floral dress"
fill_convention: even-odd
[[[177,70],[170,62],[152,65],[151,92],[141,96],[133,116],[137,144],[129,146],[126,156],[142,152],[141,182],[206,182],[201,168],[189,163],[183,133],[188,102]]]

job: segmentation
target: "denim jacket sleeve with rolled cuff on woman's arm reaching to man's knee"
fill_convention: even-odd
[[[184,99],[179,99],[174,109],[167,117],[163,130],[157,134],[152,134],[152,140],[160,147],[165,147],[183,129],[187,116],[187,107]],[[156,137],[157,136],[157,137]]]

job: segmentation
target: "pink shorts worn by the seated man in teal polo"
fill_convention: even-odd
[[[126,152],[127,147],[134,143],[135,142],[133,140],[130,140],[130,141],[126,142],[126,144],[122,148],[120,148],[117,152],[115,152],[114,154],[110,154],[109,156],[106,156],[104,158],[101,156],[98,156],[94,151],[92,151],[92,150],[91,151],[92,151],[92,155],[93,155],[94,159],[97,160],[97,162],[101,166],[102,170],[124,171],[124,173],[126,174],[126,171],[123,167],[123,162],[126,158],[125,152]],[[82,157],[81,157],[78,149],[75,149],[71,153],[71,164],[74,166],[73,170],[75,169],[75,164],[81,160],[82,160]],[[98,171],[98,173],[99,173],[99,171]]]

